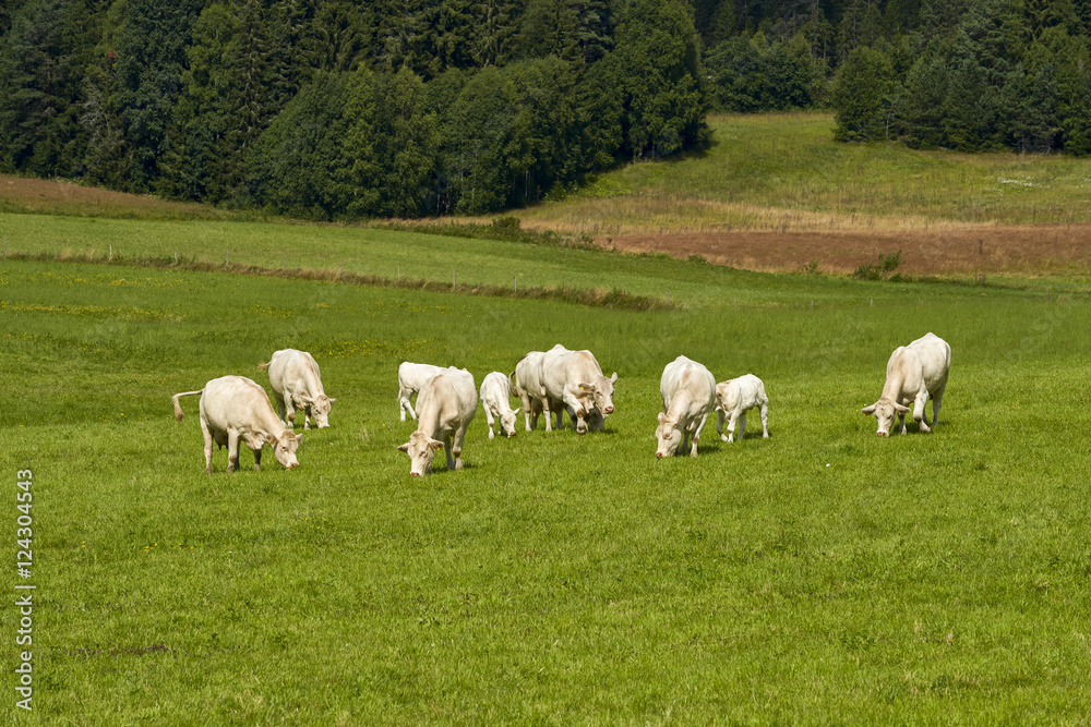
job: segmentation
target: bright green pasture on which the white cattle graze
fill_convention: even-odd
[[[43,724],[1082,724],[1091,714],[1089,300],[853,282],[405,233],[0,216],[16,558],[32,469]],[[123,266],[124,256],[626,287],[679,310]],[[238,251],[238,253],[236,253]],[[235,259],[235,255],[239,259]],[[276,257],[283,256],[279,263]],[[344,263],[341,263],[344,258]],[[738,310],[736,303],[738,300]],[[954,350],[933,435],[876,437],[898,344]],[[528,350],[616,371],[606,433],[409,477],[403,360],[478,383]],[[301,468],[204,473],[170,396],[311,351],[337,398]],[[660,461],[680,353],[760,376],[771,438]],[[756,417],[752,417],[756,419]],[[751,431],[753,432],[752,421]],[[301,431],[301,429],[300,429]],[[13,570],[9,570],[13,572]],[[8,579],[13,593],[14,575]],[[2,609],[14,705],[13,598]]]

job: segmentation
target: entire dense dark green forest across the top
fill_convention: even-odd
[[[7,0],[0,171],[319,219],[481,213],[832,108],[1091,153],[1091,0]]]

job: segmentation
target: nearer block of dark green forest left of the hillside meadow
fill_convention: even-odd
[[[0,170],[329,219],[537,201],[707,133],[684,0],[15,0]]]

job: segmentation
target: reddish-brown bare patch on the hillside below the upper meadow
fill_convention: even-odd
[[[901,251],[909,275],[1091,272],[1091,223],[948,228],[918,232],[623,233],[596,243],[627,252],[699,255],[747,270],[851,272]]]

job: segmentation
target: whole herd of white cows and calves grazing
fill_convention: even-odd
[[[921,432],[931,432],[924,407],[931,398],[932,426],[935,426],[939,421],[950,361],[950,347],[931,332],[895,350],[887,363],[879,400],[861,410],[865,415],[875,415],[878,421],[876,434],[889,436],[896,416],[904,434],[910,405]],[[277,351],[268,363],[259,364],[259,368],[268,372],[279,414],[274,412],[265,389],[244,376],[215,378],[203,389],[172,397],[175,417],[181,421],[179,398],[201,395],[199,409],[206,472],[212,472],[214,443],[228,448],[228,472],[238,469],[243,443],[253,450],[257,470],[261,470],[265,445],[273,448],[277,461],[285,468],[297,468],[296,450],[303,438],[293,432],[298,412],[303,412],[304,429],[311,427],[312,419],[319,428],[329,425],[329,410],[336,399],[331,399],[323,390],[319,364],[310,353],[293,349]],[[463,443],[477,413],[479,393],[490,439],[495,436],[493,427],[497,422],[503,434],[515,436],[520,411],[528,432],[537,428],[542,414],[547,432],[554,426],[561,428],[565,414],[578,434],[588,429],[601,431],[607,417],[614,412],[616,380],[616,372],[607,377],[590,351],[570,351],[561,344],[549,351],[531,351],[508,375],[488,374],[480,390],[475,386],[472,374],[465,368],[405,362],[398,367],[398,408],[401,421],[406,421],[408,413],[417,421],[417,429],[398,450],[409,455],[412,476],[430,472],[440,449],[444,450],[448,470],[461,470]],[[513,389],[521,402],[521,407],[514,410],[511,407]],[[734,441],[736,429],[742,439],[746,432],[746,412],[752,409],[760,412],[762,436],[769,436],[769,398],[765,384],[752,374],[717,384],[704,365],[679,356],[663,368],[659,392],[663,411],[656,426],[658,458],[686,451],[696,457],[702,429],[714,411],[717,412],[716,431],[723,441]],[[415,393],[416,407],[411,401]],[[723,433],[724,422],[727,434]]]

